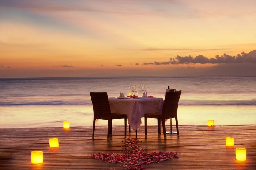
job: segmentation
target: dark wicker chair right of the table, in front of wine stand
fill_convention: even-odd
[[[166,92],[165,100],[163,101],[163,108],[161,113],[146,113],[145,114],[145,138],[147,138],[147,118],[157,119],[157,130],[158,135],[160,135],[160,122],[162,120],[163,125],[163,135],[166,139],[166,129],[165,129],[165,119],[175,118],[177,135],[179,137],[177,110],[178,103],[180,100],[181,91],[177,92]]]

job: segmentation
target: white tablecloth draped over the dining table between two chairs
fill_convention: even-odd
[[[119,99],[109,98],[112,113],[126,114],[128,124],[133,130],[138,129],[145,113],[161,112],[163,98]]]

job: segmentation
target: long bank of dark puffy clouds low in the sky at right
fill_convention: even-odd
[[[170,58],[170,64],[224,64],[224,63],[256,63],[256,56],[242,52],[237,54],[237,56],[231,56],[224,53],[219,56],[216,55],[215,58],[207,58],[203,55],[197,55],[192,57],[191,55],[182,57],[177,55],[176,58]]]

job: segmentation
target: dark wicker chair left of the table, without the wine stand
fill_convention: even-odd
[[[108,120],[108,137],[112,136],[112,120],[124,119],[124,138],[126,138],[126,115],[111,113],[107,92],[90,92],[93,103],[93,139],[96,119]]]

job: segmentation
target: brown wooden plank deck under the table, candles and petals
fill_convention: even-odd
[[[180,137],[167,134],[167,140],[163,139],[163,134],[157,136],[157,126],[147,128],[146,140],[144,127],[138,129],[138,138],[147,147],[147,152],[177,151],[179,155],[179,158],[145,165],[147,170],[256,169],[256,125],[180,125],[179,128]],[[71,127],[69,130],[61,127],[0,129],[0,169],[109,170],[113,167],[123,170],[123,164],[91,158],[91,154],[97,152],[122,152],[120,146],[123,145],[124,127],[114,126],[109,141],[106,140],[106,129],[96,127],[94,140],[91,138],[92,127]],[[134,131],[127,134],[128,138],[135,137]],[[235,138],[234,147],[225,146],[227,136]],[[59,138],[59,147],[49,147],[49,138]],[[247,149],[246,161],[236,161],[235,148]],[[44,163],[31,164],[33,150],[44,152]]]

